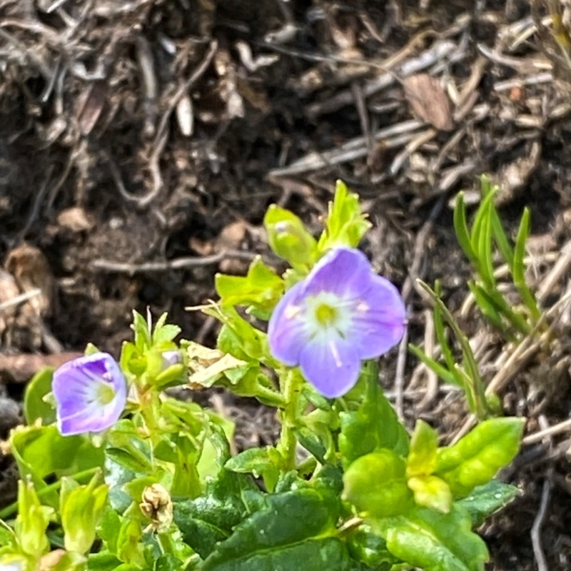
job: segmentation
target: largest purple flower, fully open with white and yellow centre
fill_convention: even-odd
[[[363,253],[335,248],[280,300],[270,319],[272,355],[299,365],[325,397],[347,393],[361,360],[403,337],[405,305],[390,281],[373,273]]]

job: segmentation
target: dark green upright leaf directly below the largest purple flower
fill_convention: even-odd
[[[357,410],[339,413],[339,451],[343,456],[343,465],[348,466],[360,456],[380,448],[407,455],[408,434],[383,395],[376,363],[365,363],[356,388],[363,388],[365,393]]]

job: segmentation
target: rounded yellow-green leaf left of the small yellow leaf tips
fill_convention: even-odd
[[[406,464],[392,450],[361,456],[343,475],[343,498],[370,517],[406,512],[413,505],[407,486]]]

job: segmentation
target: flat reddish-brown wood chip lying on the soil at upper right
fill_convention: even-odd
[[[450,99],[438,78],[415,74],[403,79],[405,97],[413,111],[440,131],[452,131],[454,122]]]

